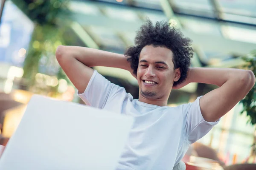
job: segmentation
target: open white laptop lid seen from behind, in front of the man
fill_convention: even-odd
[[[32,96],[0,170],[114,170],[133,118]]]

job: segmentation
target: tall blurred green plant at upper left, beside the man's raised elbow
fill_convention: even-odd
[[[67,79],[55,59],[58,45],[66,45],[65,36],[70,11],[70,0],[12,0],[12,2],[35,23],[29,49],[23,63],[23,84],[26,90],[35,84],[35,75],[56,75],[58,79]],[[64,20],[63,20],[64,18]],[[51,69],[45,69],[51,68]],[[52,69],[52,68],[57,68]],[[69,81],[68,81],[69,82]],[[56,90],[55,87],[53,90]]]

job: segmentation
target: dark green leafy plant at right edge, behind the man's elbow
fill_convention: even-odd
[[[242,59],[247,62],[245,67],[253,71],[254,75],[256,76],[256,50],[242,57]],[[243,110],[241,113],[246,113],[247,116],[249,116],[250,119],[248,123],[256,125],[256,84],[244,97],[244,99],[241,100],[241,103],[243,105]]]

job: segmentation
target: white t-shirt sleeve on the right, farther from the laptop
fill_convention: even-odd
[[[196,142],[205,136],[220,119],[215,122],[207,122],[202,116],[199,96],[195,102],[183,105],[183,133],[189,144]]]

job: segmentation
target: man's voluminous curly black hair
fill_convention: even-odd
[[[154,47],[165,47],[174,54],[174,67],[180,68],[180,79],[174,82],[174,86],[178,85],[187,77],[187,71],[190,66],[190,58],[193,57],[194,50],[190,46],[192,40],[184,38],[182,32],[170,26],[169,22],[158,21],[155,26],[151,20],[146,18],[146,23],[140,27],[136,32],[135,46],[131,46],[125,52],[130,62],[133,73],[137,74],[139,65],[140,52],[146,45],[153,45]]]

